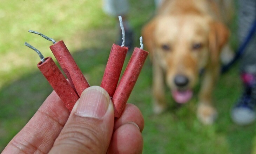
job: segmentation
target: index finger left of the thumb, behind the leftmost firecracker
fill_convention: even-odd
[[[53,91],[26,126],[9,142],[2,154],[48,153],[69,114],[59,96]]]

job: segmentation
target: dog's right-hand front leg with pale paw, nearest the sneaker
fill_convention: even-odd
[[[212,93],[217,81],[219,66],[206,69],[199,94],[197,117],[203,124],[213,124],[217,117],[217,111],[212,104]]]

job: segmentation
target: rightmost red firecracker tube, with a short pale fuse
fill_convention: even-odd
[[[121,116],[147,56],[147,51],[135,47],[112,98],[115,117]]]

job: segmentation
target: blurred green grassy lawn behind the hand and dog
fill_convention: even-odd
[[[139,46],[141,27],[154,15],[153,0],[130,0],[129,20]],[[24,42],[51,56],[51,42],[29,29],[63,40],[90,85],[100,85],[112,43],[118,39],[115,19],[105,15],[101,0],[1,0],[0,5],[0,151],[34,115],[52,88],[36,64],[38,55]],[[128,53],[126,63],[131,53]],[[197,98],[161,115],[151,108],[151,64],[146,61],[129,102],[144,116],[144,154],[250,154],[256,153],[256,124],[241,127],[230,120],[230,108],[242,85],[238,66],[221,75],[214,91],[218,119],[204,126],[195,116]],[[171,99],[170,99],[171,100]]]

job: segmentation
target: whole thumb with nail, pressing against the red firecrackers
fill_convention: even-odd
[[[114,109],[106,90],[83,91],[49,153],[106,154],[114,127]]]

